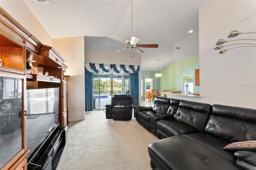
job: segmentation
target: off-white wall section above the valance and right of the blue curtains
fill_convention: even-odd
[[[130,57],[130,53],[124,53],[124,52],[117,53],[114,51],[105,51],[105,50],[96,50],[96,49],[86,48],[84,61],[87,63],[139,65],[141,67],[141,56],[139,53],[136,53],[136,52],[132,53],[132,57]],[[141,68],[139,72],[139,104],[141,104],[140,84],[141,84]]]

